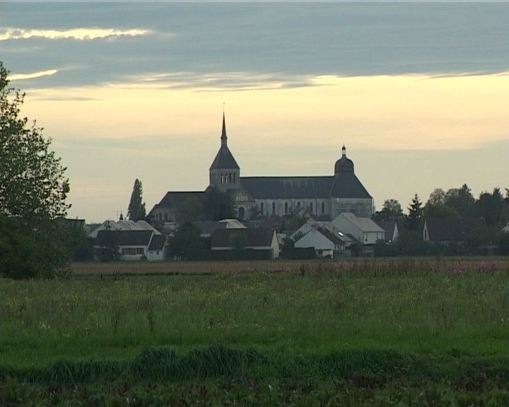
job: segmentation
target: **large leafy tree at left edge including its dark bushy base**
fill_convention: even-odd
[[[0,61],[0,275],[65,274],[68,253],[55,219],[66,215],[69,179],[35,122],[20,117],[25,94]]]

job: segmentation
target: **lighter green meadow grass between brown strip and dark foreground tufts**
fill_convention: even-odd
[[[503,355],[508,265],[399,261],[296,271],[0,280],[1,365],[135,360],[218,343],[282,355],[398,350]]]

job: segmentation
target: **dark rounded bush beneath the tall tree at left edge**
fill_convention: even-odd
[[[68,256],[49,228],[28,228],[18,218],[0,216],[0,276],[54,278],[68,272]]]

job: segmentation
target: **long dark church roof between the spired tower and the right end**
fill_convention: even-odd
[[[240,185],[254,199],[368,198],[353,173],[334,177],[240,177]]]

